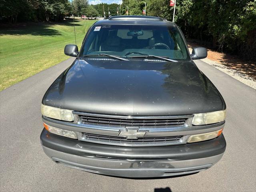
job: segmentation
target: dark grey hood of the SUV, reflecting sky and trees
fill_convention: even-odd
[[[75,60],[42,103],[81,112],[182,115],[223,110],[222,98],[193,62]]]

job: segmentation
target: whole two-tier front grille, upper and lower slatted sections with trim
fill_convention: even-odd
[[[123,146],[184,144],[186,143],[183,139],[184,136],[170,136],[168,132],[176,132],[182,127],[186,127],[187,123],[193,117],[193,115],[124,116],[78,111],[73,111],[73,114],[78,124],[84,126],[86,129],[90,129],[90,131],[84,130],[84,132],[80,132],[79,140]],[[94,132],[94,128],[97,131]],[[128,128],[134,128],[138,132],[146,132],[146,134],[137,139],[127,139],[123,136],[117,136],[118,132],[120,133],[121,130],[127,130]],[[99,130],[102,130],[102,132]]]

